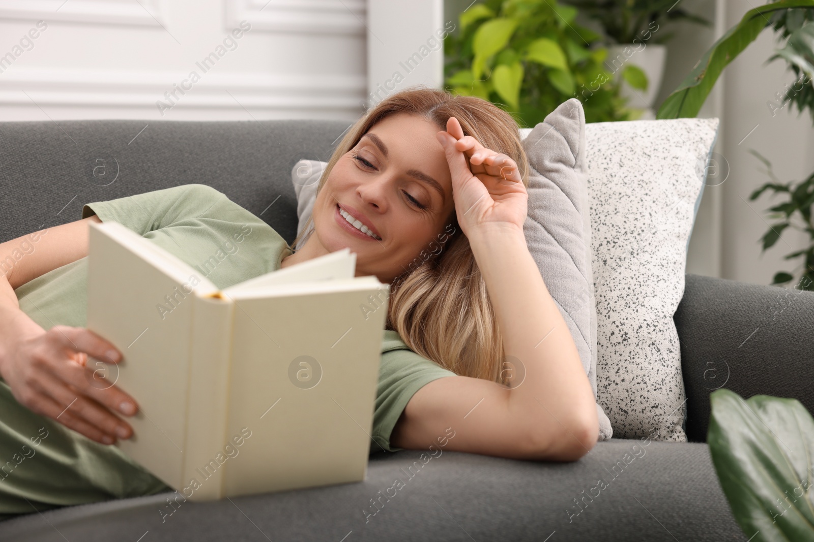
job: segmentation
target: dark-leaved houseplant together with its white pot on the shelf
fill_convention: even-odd
[[[672,33],[665,26],[685,20],[710,25],[676,0],[567,0],[602,25],[608,44],[608,69],[621,76],[628,105],[652,119],[652,106],[661,88],[667,47]],[[633,58],[635,56],[635,58]]]

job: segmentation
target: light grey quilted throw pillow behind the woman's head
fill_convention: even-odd
[[[521,130],[521,137],[528,130]],[[585,115],[576,98],[562,103],[523,140],[531,169],[523,233],[551,297],[574,338],[597,395],[597,312],[591,271]],[[291,169],[301,232],[311,216],[325,162],[300,160]],[[299,247],[296,247],[299,248]],[[613,435],[597,402],[599,440]]]

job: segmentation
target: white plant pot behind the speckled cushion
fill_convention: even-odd
[[[664,64],[667,60],[667,46],[659,44],[619,44],[608,47],[608,56],[605,66],[615,78],[622,76],[622,71],[628,64],[641,68],[647,76],[647,90],[633,89],[628,82],[622,80],[622,96],[629,98],[628,107],[643,110],[641,119],[655,119],[653,105],[661,89],[664,76]]]

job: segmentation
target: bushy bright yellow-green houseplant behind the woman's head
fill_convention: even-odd
[[[556,0],[486,0],[464,11],[444,41],[445,88],[478,96],[533,127],[568,98],[586,122],[627,120],[619,85],[606,71],[597,33]]]

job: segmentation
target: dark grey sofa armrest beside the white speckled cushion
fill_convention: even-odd
[[[814,293],[686,275],[673,319],[690,441],[707,441],[718,388],[794,397],[814,412]]]

